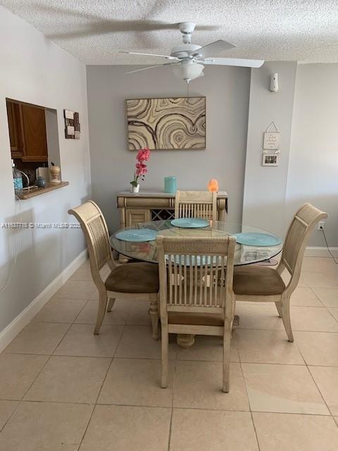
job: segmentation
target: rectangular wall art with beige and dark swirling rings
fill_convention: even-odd
[[[206,97],[126,102],[129,150],[206,148]]]

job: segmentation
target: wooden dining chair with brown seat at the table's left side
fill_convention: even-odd
[[[92,278],[99,290],[99,306],[94,334],[101,328],[104,315],[111,311],[115,299],[149,301],[153,338],[158,338],[158,266],[151,263],[117,265],[112,257],[108,228],[99,206],[85,202],[68,210],[79,221],[87,242]],[[100,270],[108,264],[111,273],[106,280]],[[108,300],[109,299],[109,300]]]

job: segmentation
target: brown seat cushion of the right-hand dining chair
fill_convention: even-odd
[[[249,265],[234,268],[233,290],[236,295],[280,295],[284,289],[282,278],[270,266]]]

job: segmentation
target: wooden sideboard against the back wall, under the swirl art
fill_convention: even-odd
[[[144,190],[138,193],[121,191],[118,193],[120,227],[136,226],[138,223],[173,219],[175,215],[175,194]],[[227,193],[217,193],[218,221],[225,220],[227,214]]]

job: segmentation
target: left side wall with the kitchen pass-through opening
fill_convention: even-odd
[[[90,194],[84,65],[1,6],[0,42],[0,223],[69,221],[68,209]],[[61,170],[68,187],[15,201],[6,97],[57,110]],[[80,140],[65,140],[64,108],[79,111]],[[79,229],[0,228],[0,331],[83,249]]]

